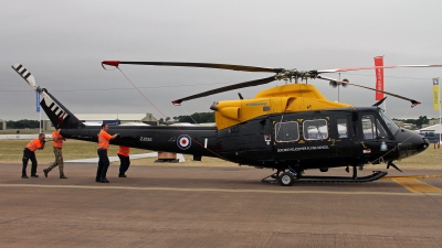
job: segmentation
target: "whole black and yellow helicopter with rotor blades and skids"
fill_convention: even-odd
[[[442,65],[393,65],[337,68],[325,71],[297,71],[266,68],[256,66],[178,63],[178,62],[122,62],[104,61],[102,66],[122,64],[186,66],[242,72],[273,73],[274,75],[256,80],[234,84],[201,94],[173,100],[182,101],[210,96],[228,90],[257,86],[274,80],[294,80],[262,90],[254,98],[213,103],[210,107],[215,115],[215,127],[123,127],[112,128],[119,133],[112,144],[155,151],[192,154],[193,160],[202,157],[218,157],[240,165],[274,169],[276,173],[262,182],[278,182],[283,186],[296,181],[307,182],[370,182],[387,174],[373,171],[371,175],[358,177],[357,168],[365,164],[386,163],[387,169],[393,161],[401,160],[429,147],[429,141],[418,133],[399,128],[379,107],[380,100],[371,107],[355,107],[348,104],[327,100],[312,84],[299,80],[324,79],[330,85],[352,85],[366,89],[375,88],[357,85],[346,79],[337,80],[324,77],[326,73],[339,73],[359,69],[394,67],[442,67]],[[35,84],[34,77],[21,64],[12,65],[34,90],[41,95],[41,107],[54,127],[71,139],[97,141],[99,127],[85,126],[48,89]],[[380,91],[380,90],[378,90]],[[412,106],[420,104],[399,95],[382,91],[386,95],[409,100]],[[329,168],[344,166],[352,175],[306,176],[305,170],[318,169],[327,172]]]

